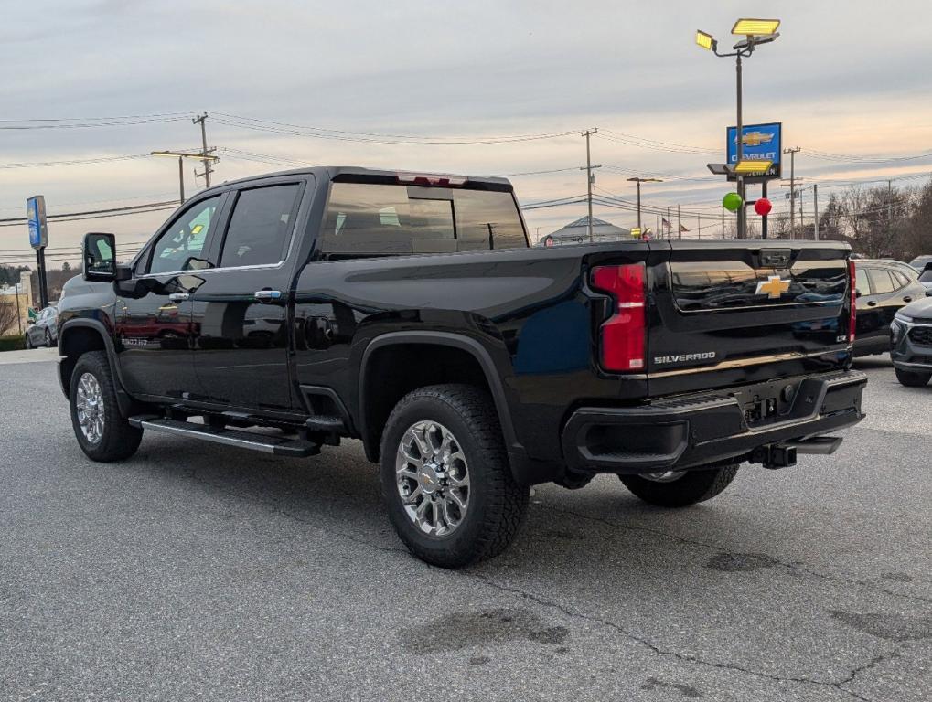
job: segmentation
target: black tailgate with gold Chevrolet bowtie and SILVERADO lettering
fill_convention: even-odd
[[[847,245],[651,242],[652,397],[843,367]]]

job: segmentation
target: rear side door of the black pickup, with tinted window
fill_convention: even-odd
[[[246,411],[293,409],[288,254],[306,178],[230,194],[226,231],[213,253],[219,263],[191,298],[194,367],[208,401]]]

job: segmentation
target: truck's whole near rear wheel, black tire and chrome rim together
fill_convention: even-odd
[[[402,398],[382,434],[381,478],[404,545],[442,568],[500,554],[528,507],[492,398],[471,385],[432,385]]]

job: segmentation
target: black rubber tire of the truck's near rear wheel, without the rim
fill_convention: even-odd
[[[395,460],[408,428],[430,421],[455,436],[468,465],[468,506],[451,533],[423,532],[408,516]],[[382,433],[382,495],[408,550],[441,568],[461,568],[499,555],[514,539],[528,507],[528,487],[514,482],[492,398],[472,385],[431,385],[408,393]]]

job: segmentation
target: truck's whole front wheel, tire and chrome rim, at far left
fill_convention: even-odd
[[[120,415],[117,386],[105,352],[90,351],[77,359],[68,400],[75,438],[88,458],[121,461],[139,448],[143,430]]]

